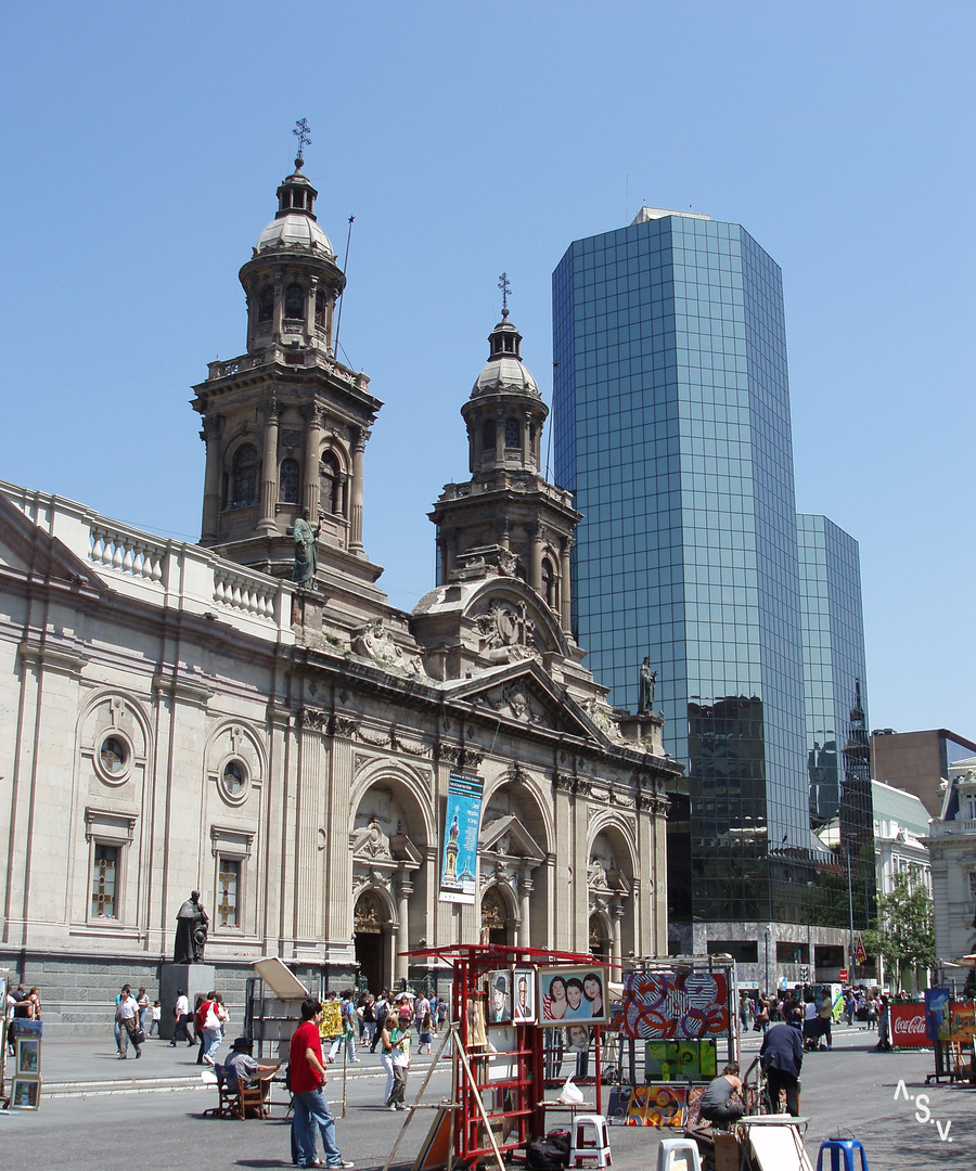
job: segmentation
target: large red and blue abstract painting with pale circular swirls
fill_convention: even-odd
[[[697,1040],[729,1028],[728,985],[715,972],[628,972],[621,1036]]]

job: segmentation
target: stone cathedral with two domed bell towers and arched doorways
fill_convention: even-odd
[[[397,610],[363,547],[382,404],[336,356],[316,194],[299,158],[240,269],[246,350],[194,388],[198,545],[0,484],[0,967],[63,1032],[158,988],[194,889],[238,992],[268,954],[378,991],[439,944],[667,953],[681,769],[572,637],[580,518],[541,474],[521,337],[505,309],[460,406],[469,478],[430,513],[437,584]],[[445,898],[452,778],[480,796]]]

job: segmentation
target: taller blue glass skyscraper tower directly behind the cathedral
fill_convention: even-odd
[[[574,630],[619,706],[636,707],[644,655],[658,670],[666,747],[689,776],[678,915],[804,922],[813,855],[779,267],[736,224],[635,221],[571,245],[553,335],[555,474],[585,518]]]

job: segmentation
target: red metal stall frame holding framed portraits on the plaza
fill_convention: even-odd
[[[472,1075],[482,1064],[482,1056],[477,1049],[472,1052],[469,1047],[469,1016],[467,1007],[472,994],[478,991],[479,984],[486,973],[496,968],[513,968],[517,965],[531,966],[534,968],[560,967],[560,966],[588,966],[609,971],[612,966],[606,960],[600,960],[589,953],[554,951],[547,947],[509,947],[492,944],[455,944],[445,947],[425,947],[418,951],[401,952],[411,959],[437,958],[450,964],[453,971],[453,982],[451,987],[451,1020],[457,1028],[462,1047],[469,1057],[469,1068]],[[541,1006],[537,1005],[537,1018]],[[484,1125],[482,1112],[478,1109],[477,1096],[483,1090],[509,1090],[512,1093],[513,1105],[511,1110],[489,1111],[489,1118],[511,1118],[514,1124],[514,1137],[498,1143],[498,1149],[504,1153],[513,1152],[527,1148],[533,1138],[540,1138],[545,1134],[545,1049],[544,1035],[548,1028],[559,1026],[540,1026],[537,1022],[518,1023],[512,1022],[516,1029],[516,1056],[517,1074],[513,1078],[501,1081],[472,1081],[469,1080],[465,1063],[453,1055],[455,1084],[458,1088],[457,1117],[453,1125],[453,1158],[455,1165],[475,1166],[477,1163],[494,1156],[491,1145],[485,1146],[478,1142],[478,1131]],[[603,1100],[601,1088],[600,1050],[601,1050],[601,1026],[594,1025],[594,1048],[595,1048],[595,1087],[596,1087],[596,1112],[603,1112]],[[477,1095],[477,1096],[476,1096]]]

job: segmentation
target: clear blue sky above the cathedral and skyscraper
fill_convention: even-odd
[[[567,245],[691,207],[783,268],[797,505],[860,541],[872,726],[974,737],[974,33],[971,2],[8,5],[0,477],[199,536],[190,386],[244,349],[306,117],[409,609],[499,273],[548,398]]]

